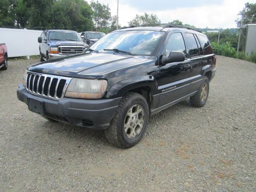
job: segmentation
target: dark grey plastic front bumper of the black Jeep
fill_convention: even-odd
[[[29,99],[42,103],[44,117],[96,130],[105,130],[109,127],[121,100],[119,97],[95,100],[61,98],[56,101],[30,94],[23,84],[18,86],[17,97],[27,105]]]

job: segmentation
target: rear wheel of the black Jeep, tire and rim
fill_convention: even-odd
[[[203,78],[203,82],[198,89],[198,92],[191,96],[190,103],[192,106],[196,106],[197,108],[201,108],[205,105],[207,98],[209,95],[209,79],[207,77]]]

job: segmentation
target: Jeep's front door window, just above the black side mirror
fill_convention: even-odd
[[[181,33],[174,33],[170,36],[165,48],[166,56],[169,56],[170,52],[172,51],[183,52],[186,57],[186,48],[185,48],[184,39]]]

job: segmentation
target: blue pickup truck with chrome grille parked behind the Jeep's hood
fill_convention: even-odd
[[[89,47],[76,31],[68,30],[45,30],[38,42],[41,61],[82,53]]]

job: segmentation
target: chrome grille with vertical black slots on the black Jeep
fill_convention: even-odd
[[[64,96],[71,79],[69,77],[28,72],[26,88],[34,95],[58,100]]]

